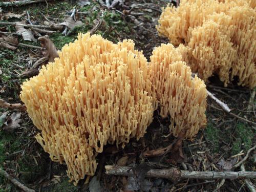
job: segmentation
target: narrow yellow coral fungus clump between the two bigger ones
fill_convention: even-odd
[[[206,124],[207,93],[204,82],[191,77],[181,49],[172,44],[156,48],[149,66],[150,78],[154,108],[160,105],[161,116],[170,117],[170,132],[191,139]]]

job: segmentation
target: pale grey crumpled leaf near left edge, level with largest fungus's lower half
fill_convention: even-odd
[[[17,128],[20,127],[20,122],[22,122],[22,119],[20,119],[20,113],[13,113],[10,117],[7,118],[7,121],[4,123],[3,130],[9,133],[13,133]]]

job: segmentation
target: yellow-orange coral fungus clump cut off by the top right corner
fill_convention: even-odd
[[[224,86],[256,86],[256,11],[251,0],[183,0],[166,7],[157,26],[183,55],[193,72],[207,81],[218,74]]]

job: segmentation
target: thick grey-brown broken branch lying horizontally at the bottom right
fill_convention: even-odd
[[[132,167],[106,165],[106,175],[133,176]],[[181,179],[244,179],[256,178],[256,172],[190,172],[189,170],[179,170],[177,168],[151,169],[146,177],[163,178],[173,181]]]

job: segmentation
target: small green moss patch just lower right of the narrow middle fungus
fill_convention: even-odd
[[[219,151],[219,139],[220,131],[216,129],[212,124],[208,124],[205,129],[205,138],[211,145],[212,152],[216,153]]]

